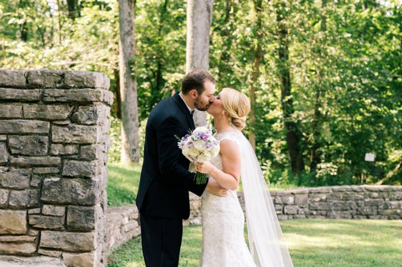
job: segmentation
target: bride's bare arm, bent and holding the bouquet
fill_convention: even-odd
[[[224,139],[220,143],[223,171],[209,161],[195,163],[197,171],[212,176],[222,187],[236,190],[240,181],[240,152],[238,146],[231,140]]]

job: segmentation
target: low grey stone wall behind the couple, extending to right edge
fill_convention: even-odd
[[[296,218],[402,219],[402,186],[343,185],[270,191],[279,220]],[[238,192],[244,210],[243,192]],[[188,224],[201,224],[201,200],[190,194]]]

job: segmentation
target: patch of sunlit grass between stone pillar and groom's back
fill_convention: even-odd
[[[106,187],[108,205],[121,206],[135,203],[141,166],[138,164],[108,163],[108,169],[109,179]]]

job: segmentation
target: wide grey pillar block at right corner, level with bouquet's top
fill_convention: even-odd
[[[68,125],[52,127],[52,141],[69,144],[94,144],[100,139],[99,126]]]

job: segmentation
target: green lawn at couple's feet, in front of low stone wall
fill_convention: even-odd
[[[401,220],[280,221],[294,266],[402,266]],[[198,266],[202,228],[184,228],[179,266]],[[108,267],[145,266],[141,237],[113,249]]]

